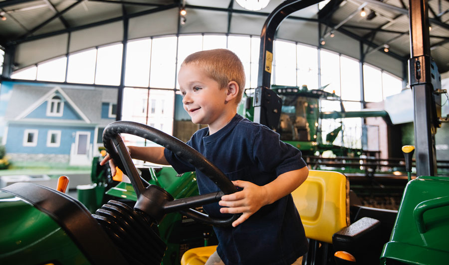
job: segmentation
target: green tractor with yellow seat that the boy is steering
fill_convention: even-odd
[[[259,84],[254,92],[253,120],[271,129],[278,130],[280,125],[283,105],[277,94],[282,97],[284,93],[270,89],[271,72],[267,70],[270,67],[265,67],[271,64],[267,55],[272,52],[275,30],[287,15],[317,2],[283,2],[268,16],[262,30]],[[423,8],[425,6],[421,5],[421,1],[410,0],[411,28],[421,28],[427,31],[428,36],[427,9],[423,12]],[[439,119],[435,111],[433,88],[436,86],[433,82],[438,75],[431,75],[429,40],[427,38],[426,42],[424,37],[426,34],[417,34],[417,31],[411,33],[413,45],[410,72],[415,98],[419,177],[408,182],[397,212],[367,207],[349,209],[349,182],[340,173],[342,185],[339,187],[330,185],[320,189],[323,186],[317,186],[317,192],[310,194],[315,197],[320,195],[317,198],[321,199],[316,200],[322,206],[320,209],[325,209],[324,213],[330,212],[326,207],[332,205],[322,198],[334,196],[335,201],[340,203],[334,204],[336,207],[333,209],[343,211],[344,214],[340,220],[331,220],[339,221],[335,231],[328,229],[325,223],[325,229],[309,234],[309,252],[303,264],[433,265],[445,264],[449,259],[449,239],[446,236],[449,233],[449,179],[435,176],[433,135]],[[424,54],[420,54],[419,49],[415,51],[414,47],[424,47]],[[283,96],[288,93],[293,92],[286,91]],[[284,97],[284,103],[287,103],[287,97]],[[285,114],[291,112],[291,109],[286,108],[287,105],[284,106]],[[308,148],[313,149],[314,141],[309,138],[305,140],[304,135],[317,135],[315,133],[318,131],[310,126],[315,124],[314,121],[315,118],[307,121],[306,117],[306,121],[298,121],[295,127],[293,124],[296,119],[291,121],[293,126],[289,126],[285,117],[285,126],[280,128],[291,133],[296,146],[312,142]],[[302,126],[299,126],[301,123]],[[304,126],[307,124],[308,127]],[[139,175],[120,133],[141,136],[171,149],[205,172],[222,192],[199,195],[195,174],[189,172],[178,175],[171,167],[142,169],[142,175]],[[37,184],[16,183],[0,189],[0,264],[177,265],[186,250],[216,244],[211,229],[213,225],[229,225],[235,220],[235,215],[221,220],[202,213],[202,205],[217,202],[223,194],[235,192],[236,189],[218,168],[182,141],[148,126],[115,122],[105,129],[104,142],[107,151],[126,172],[131,183],[115,185],[105,180],[108,179],[107,174],[96,179],[96,185],[92,188],[95,195],[90,197],[90,204],[85,197],[80,197],[93,214],[80,201],[61,191]],[[411,169],[410,149],[406,150],[408,171]],[[320,172],[314,172],[309,177],[311,185],[308,190],[312,191],[315,187],[313,183],[319,183],[316,179],[322,176]],[[332,177],[329,179],[335,180]],[[337,188],[341,192],[336,192]],[[103,190],[107,190],[105,197]],[[299,192],[301,194],[304,192]],[[301,199],[295,201],[295,204],[297,207],[305,205]],[[97,205],[100,205],[100,209],[95,210]],[[315,211],[315,208],[311,210],[312,221],[321,216],[322,212]],[[304,220],[308,218],[306,212],[300,211],[300,214]],[[304,225],[307,226],[306,222]],[[330,236],[321,237],[324,232]]]

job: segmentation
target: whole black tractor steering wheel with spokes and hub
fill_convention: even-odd
[[[174,200],[170,193],[159,186],[149,185],[145,187],[119,133],[140,136],[164,146],[203,172],[222,191]],[[196,210],[189,209],[218,202],[223,195],[234,193],[237,191],[237,188],[218,167],[207,160],[200,152],[181,140],[147,125],[118,121],[109,124],[104,129],[103,143],[115,164],[123,172],[126,172],[131,180],[131,184],[137,195],[137,202],[134,209],[145,212],[155,222],[159,223],[167,213],[176,211],[182,211],[194,220],[215,226],[228,226],[240,216],[240,214],[234,214],[227,219],[212,218]]]

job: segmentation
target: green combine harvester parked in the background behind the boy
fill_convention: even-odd
[[[340,97],[335,93],[324,91],[327,86],[309,90],[307,86],[271,86],[271,91],[282,101],[279,122],[273,128],[280,134],[280,139],[292,144],[302,151],[304,155],[322,154],[332,151],[338,156],[360,156],[361,148],[348,148],[333,144],[337,135],[343,133],[343,127],[337,127],[325,135],[323,142],[321,134],[321,121],[323,119],[340,118],[366,118],[388,117],[384,110],[364,109],[360,111],[345,111]],[[340,101],[340,111],[322,112],[322,100]],[[239,108],[239,113],[245,118],[254,121],[253,95],[246,95],[245,108]]]

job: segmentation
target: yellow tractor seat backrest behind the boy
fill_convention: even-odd
[[[349,225],[349,182],[342,173],[309,170],[291,195],[307,238],[332,243],[332,235]]]

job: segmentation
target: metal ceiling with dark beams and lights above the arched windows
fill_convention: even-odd
[[[0,12],[4,12],[7,18],[5,21],[0,21],[0,44],[2,46],[15,45],[23,41],[36,39],[39,37],[52,36],[52,34],[61,34],[64,32],[71,32],[83,27],[90,27],[101,24],[104,21],[120,21],[122,16],[135,16],[135,14],[147,15],[152,11],[159,9],[178,8],[182,5],[183,0],[132,0],[126,3],[127,0],[0,0]],[[256,15],[260,16],[265,13],[268,14],[282,0],[271,0],[267,7],[258,11]],[[247,17],[251,19],[255,17],[249,13],[242,13],[243,8],[240,7],[234,0],[186,0],[185,3],[189,8],[198,8],[203,10],[214,10],[218,12],[231,13],[232,17]],[[409,45],[409,21],[408,15],[404,13],[408,1],[403,5],[403,0],[384,0],[376,2],[375,0],[331,0],[328,5],[340,3],[339,7],[324,20],[318,16],[317,5],[310,6],[303,10],[296,11],[292,16],[296,17],[298,23],[302,21],[317,21],[327,25],[327,31],[332,27],[338,25],[341,21],[347,20],[339,28],[340,33],[350,33],[358,36],[358,38],[366,38],[366,41],[371,42],[371,46],[381,46],[384,44],[390,45],[390,52],[397,55],[397,58],[407,58],[410,54]],[[365,10],[369,14],[374,11],[376,16],[371,20],[366,17],[361,17],[358,13],[358,8],[361,4],[366,4]],[[388,8],[388,5],[394,8]],[[228,9],[232,6],[232,9]],[[439,23],[431,23],[431,46],[432,56],[436,60],[441,72],[449,70],[449,2],[448,1],[429,1],[430,9],[429,16],[433,19],[438,19]],[[399,8],[399,9],[398,9]],[[150,10],[150,11],[149,11]],[[446,12],[446,13],[445,13]],[[178,21],[178,15],[166,16],[164,19]],[[216,12],[197,12],[198,14],[213,15]],[[231,17],[231,21],[232,21]],[[193,17],[191,17],[193,18]],[[160,18],[159,18],[160,19]],[[223,19],[222,19],[223,20]],[[220,21],[222,21],[220,20]],[[257,19],[258,21],[259,19]],[[263,19],[260,19],[263,20]],[[189,20],[188,20],[189,21]],[[198,19],[190,19],[190,21],[199,21]],[[202,18],[201,21],[207,21],[208,30],[213,32],[214,17]],[[171,22],[170,22],[171,23]],[[177,23],[177,22],[176,22]],[[231,22],[232,23],[232,22]],[[151,27],[152,24],[148,24]],[[239,32],[241,27],[239,25]],[[311,24],[313,28],[318,28]],[[382,27],[382,28],[381,28]],[[187,29],[188,27],[186,27]],[[192,28],[199,28],[192,27]],[[201,27],[200,27],[201,28]],[[217,25],[220,28],[217,32],[223,32],[223,25]],[[235,29],[235,25],[232,27]],[[260,25],[260,30],[262,25]],[[291,28],[291,27],[289,27]],[[373,34],[373,29],[380,29]],[[150,30],[154,31],[154,30]],[[185,32],[181,30],[180,32]],[[251,29],[251,32],[254,30]],[[258,31],[258,30],[256,30]],[[229,31],[227,33],[235,33]],[[322,36],[328,32],[322,32]],[[401,35],[402,34],[402,35]],[[138,34],[137,34],[138,35]],[[285,35],[285,34],[284,34]],[[287,34],[288,35],[288,34]],[[328,34],[329,35],[329,34]],[[374,37],[373,37],[374,36]],[[307,38],[310,36],[301,36],[298,34],[297,41],[300,38]],[[329,36],[326,41],[331,42]],[[391,41],[393,39],[393,41]],[[303,39],[305,43],[315,43],[318,40]],[[349,46],[349,45],[348,45]],[[344,52],[344,47],[341,48]],[[347,52],[346,54],[353,53]]]

